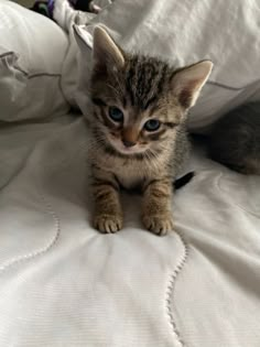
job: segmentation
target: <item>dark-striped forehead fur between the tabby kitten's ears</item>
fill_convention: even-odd
[[[145,56],[133,56],[126,69],[127,93],[132,106],[148,109],[161,97],[167,83],[169,67],[165,63]]]

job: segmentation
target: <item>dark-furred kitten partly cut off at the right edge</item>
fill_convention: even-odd
[[[209,156],[243,174],[260,175],[260,102],[220,118],[208,139]]]

